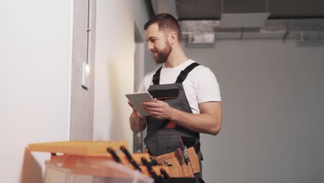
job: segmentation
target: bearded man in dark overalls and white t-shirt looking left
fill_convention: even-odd
[[[170,177],[202,178],[199,134],[216,135],[222,127],[217,79],[183,52],[180,26],[172,15],[155,15],[144,30],[147,49],[163,65],[147,73],[138,89],[154,97],[154,102],[143,103],[150,116],[129,103],[131,129],[138,133],[147,128],[147,152],[156,164],[169,168]]]

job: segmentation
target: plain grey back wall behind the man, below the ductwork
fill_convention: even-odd
[[[206,182],[324,182],[324,48],[217,40],[185,49],[219,81],[223,125],[201,135]]]

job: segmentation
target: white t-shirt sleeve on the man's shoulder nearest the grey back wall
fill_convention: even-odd
[[[196,88],[198,103],[222,101],[217,78],[207,67],[201,69],[197,74]]]

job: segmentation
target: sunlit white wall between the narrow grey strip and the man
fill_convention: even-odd
[[[147,10],[144,1],[98,0],[96,18],[93,139],[126,140],[132,150],[125,93],[134,91],[134,22],[143,35]]]

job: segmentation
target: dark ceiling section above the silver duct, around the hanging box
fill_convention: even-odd
[[[269,19],[324,18],[324,0],[175,0],[179,20],[220,19],[222,12],[270,12]]]

